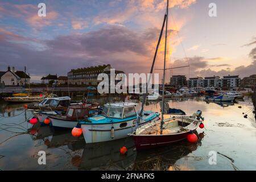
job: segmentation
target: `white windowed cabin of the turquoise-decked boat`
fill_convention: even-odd
[[[131,102],[117,102],[105,104],[101,114],[108,118],[125,119],[137,115],[135,106]]]

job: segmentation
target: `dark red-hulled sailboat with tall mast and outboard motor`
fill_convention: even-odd
[[[166,77],[166,53],[167,53],[167,31],[168,31],[168,6],[169,1],[167,0],[167,10],[164,15],[164,22],[162,26],[162,30],[160,32],[158,44],[156,46],[155,57],[158,52],[158,47],[160,44],[160,40],[162,38],[164,26],[166,26],[165,30],[165,48],[164,48],[164,69],[163,69],[163,94],[162,94],[162,117],[158,121],[152,121],[143,126],[138,126],[135,131],[130,136],[133,136],[135,146],[137,150],[144,150],[148,148],[154,148],[158,146],[165,146],[170,143],[178,142],[180,140],[184,140],[188,137],[190,133],[193,133],[197,127],[199,127],[201,121],[204,118],[201,116],[202,112],[197,110],[191,116],[187,115],[175,115],[169,118],[164,119],[164,106],[166,101],[164,101],[164,84]],[[155,65],[155,57],[151,66],[152,73]],[[150,80],[148,80],[149,82]],[[143,106],[146,101],[147,94],[143,95],[143,102],[141,111],[137,117],[137,123],[141,121],[141,114],[143,113]]]

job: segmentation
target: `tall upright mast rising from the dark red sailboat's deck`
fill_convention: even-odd
[[[169,0],[167,0],[166,7],[166,39],[164,44],[164,72],[163,72],[163,93],[162,93],[162,117],[161,117],[161,130],[163,130],[163,115],[164,115],[164,85],[166,81],[166,53],[167,53],[167,32],[168,32],[168,9],[169,9]]]

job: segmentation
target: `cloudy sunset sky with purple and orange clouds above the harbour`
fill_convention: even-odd
[[[38,16],[42,2],[46,17]],[[255,7],[254,0],[171,0],[167,68],[189,67],[168,70],[166,80],[256,74]],[[0,71],[26,66],[34,82],[102,64],[148,73],[165,12],[163,0],[1,0]],[[163,55],[164,37],[155,68]]]

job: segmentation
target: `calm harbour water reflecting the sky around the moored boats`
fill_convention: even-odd
[[[104,103],[108,97],[94,98]],[[111,98],[126,100],[127,98]],[[130,100],[138,102],[137,100]],[[133,138],[86,144],[71,130],[32,126],[23,104],[0,102],[1,170],[255,170],[256,123],[251,99],[234,104],[207,103],[203,98],[177,98],[170,107],[193,114],[203,111],[205,128],[197,129],[197,143],[187,141],[137,152]],[[241,106],[238,107],[238,106]],[[140,105],[137,106],[137,109]],[[159,102],[147,102],[146,110],[159,111]],[[247,114],[247,118],[243,114]],[[125,146],[126,155],[119,149]],[[38,164],[38,152],[46,152],[46,165]],[[214,155],[216,154],[216,158]],[[214,164],[216,160],[216,164]]]

